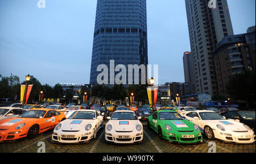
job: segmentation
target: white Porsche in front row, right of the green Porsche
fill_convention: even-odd
[[[250,144],[255,134],[248,126],[209,110],[197,110],[184,114],[186,119],[197,124],[208,139],[219,139],[228,143]]]

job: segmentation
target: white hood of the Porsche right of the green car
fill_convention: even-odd
[[[247,128],[242,123],[233,120],[204,120],[206,124],[212,125],[212,128],[218,129],[217,124],[229,131],[247,131]]]

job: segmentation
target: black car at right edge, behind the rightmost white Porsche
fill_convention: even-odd
[[[227,119],[239,120],[239,122],[246,124],[255,133],[255,111],[249,110],[232,110],[221,113]]]

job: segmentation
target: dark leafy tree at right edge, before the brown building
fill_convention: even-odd
[[[232,100],[243,100],[247,107],[255,107],[255,71],[233,74],[226,84],[226,93]]]

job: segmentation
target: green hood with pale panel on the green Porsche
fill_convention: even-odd
[[[193,123],[188,120],[162,120],[164,125],[168,124],[177,131],[193,131]]]

